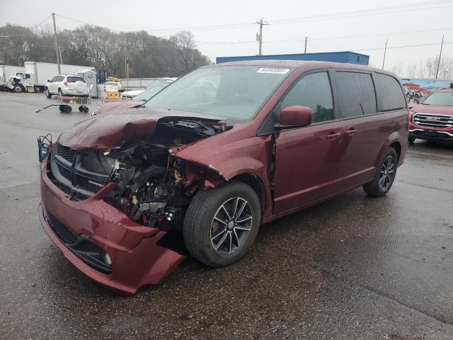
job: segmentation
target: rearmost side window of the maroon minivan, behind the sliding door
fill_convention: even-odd
[[[374,84],[376,85],[377,107],[379,111],[393,111],[406,108],[406,98],[399,81],[386,74],[375,73]]]

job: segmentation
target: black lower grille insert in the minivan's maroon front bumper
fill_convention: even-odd
[[[44,210],[44,212],[45,220],[50,229],[72,254],[101,273],[113,273],[112,265],[105,261],[105,251],[93,244],[89,237],[77,236],[74,232],[71,232],[66,225],[59,222],[47,210]]]

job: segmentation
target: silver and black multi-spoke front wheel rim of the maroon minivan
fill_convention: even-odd
[[[226,200],[214,214],[211,245],[218,254],[229,255],[246,242],[253,222],[251,205],[241,197]]]

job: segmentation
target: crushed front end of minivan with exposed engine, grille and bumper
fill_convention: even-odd
[[[173,154],[220,128],[165,118],[144,140],[108,151],[55,143],[41,169],[45,232],[98,283],[129,294],[159,283],[183,259],[164,237],[182,227],[200,186]]]

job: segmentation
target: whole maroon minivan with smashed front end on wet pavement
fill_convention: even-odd
[[[241,259],[260,224],[363,186],[384,196],[408,145],[393,74],[329,62],[202,67],[138,108],[64,130],[42,163],[40,221],[98,283],[135,293],[183,256]]]

